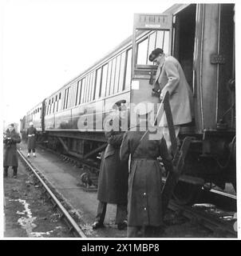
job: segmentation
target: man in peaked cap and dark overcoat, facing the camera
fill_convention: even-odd
[[[121,120],[124,122],[123,110],[120,102],[113,109],[116,116],[113,118],[113,128],[105,132],[108,145],[101,158],[101,169],[98,180],[97,215],[93,223],[93,229],[103,227],[107,203],[117,204],[116,224],[119,230],[127,226],[127,193],[128,193],[128,163],[121,163],[120,147],[124,132],[121,131]],[[121,114],[122,113],[122,114]],[[117,124],[117,126],[116,126]]]

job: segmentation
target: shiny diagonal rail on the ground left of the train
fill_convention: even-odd
[[[26,159],[26,157],[22,154],[20,150],[18,150],[18,155],[20,156],[20,159],[26,166],[26,168],[30,170],[38,179],[38,182],[43,188],[45,194],[47,194],[49,201],[53,203],[54,208],[59,214],[61,214],[61,219],[69,227],[69,232],[73,233],[75,237],[86,238],[86,235],[83,230],[81,230],[81,227],[77,224],[77,222],[75,222],[75,220],[69,214],[68,210],[65,209],[65,206],[63,206],[63,204],[57,199],[57,196],[53,194],[52,190],[49,188],[44,178],[41,177],[41,173],[34,168],[34,166]]]

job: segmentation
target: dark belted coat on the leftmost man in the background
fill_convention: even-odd
[[[6,137],[4,138],[4,151],[3,151],[3,166],[18,167],[17,143],[21,142],[20,135],[15,131],[6,130]]]

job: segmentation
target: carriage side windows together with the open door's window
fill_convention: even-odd
[[[168,53],[168,42],[168,31],[160,30],[147,33],[137,44],[136,63],[152,65],[153,63],[148,61],[148,55],[157,47]],[[59,110],[128,90],[131,84],[131,67],[132,49],[129,49],[110,59],[109,62],[97,70],[93,70],[81,80],[73,82],[64,90],[63,102],[61,102],[61,93],[50,98],[45,106],[45,114],[56,113]]]

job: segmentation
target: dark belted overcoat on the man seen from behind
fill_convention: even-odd
[[[164,138],[149,140],[144,131],[128,131],[124,134],[120,157],[131,166],[128,176],[128,226],[162,225],[162,167],[156,159],[161,156],[165,168],[172,168],[172,157]],[[140,143],[140,144],[139,144]],[[138,145],[139,144],[139,145]]]

